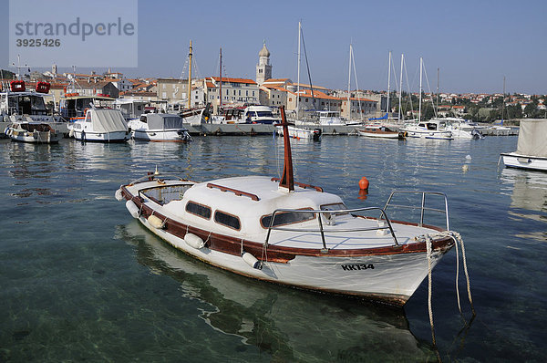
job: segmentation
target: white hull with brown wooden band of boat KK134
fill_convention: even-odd
[[[428,275],[424,241],[327,251],[319,247],[293,248],[274,244],[264,248],[263,241],[212,233],[179,220],[160,206],[154,207],[155,203],[144,202],[138,191],[135,190],[135,195],[132,195],[128,187],[122,187],[120,196],[130,201],[134,208],[131,212],[128,207],[129,212],[140,223],[173,247],[238,275],[335,295],[380,300],[396,306],[404,305]],[[415,225],[392,223],[395,230],[397,224],[399,227]],[[436,231],[440,230],[430,230],[431,233]],[[201,239],[202,244],[196,246],[191,241],[187,242],[185,236],[189,233],[192,238]],[[316,238],[315,244],[320,245],[319,234]],[[452,246],[453,240],[449,236],[434,239],[431,266],[437,264]],[[245,253],[253,255],[253,264],[245,261]],[[256,268],[256,263],[261,268]]]

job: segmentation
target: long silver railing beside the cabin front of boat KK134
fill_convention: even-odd
[[[355,213],[364,213],[364,212],[370,212],[370,211],[380,212],[382,221],[378,220],[377,227],[329,228],[327,231],[325,231],[325,227],[323,225],[323,218],[321,218],[321,216],[323,215],[325,217],[325,221],[327,225],[334,225],[333,223],[331,223],[331,221],[334,221],[336,214],[352,214],[354,216],[357,216]],[[317,213],[319,215],[319,218],[316,218],[318,223],[318,228],[290,228],[290,227],[287,227],[286,225],[274,226],[275,216],[282,213]],[[387,225],[383,222],[386,222]],[[397,236],[395,235],[391,222],[389,218],[387,217],[387,213],[384,209],[380,207],[365,207],[365,208],[344,209],[344,210],[334,210],[334,211],[333,210],[310,210],[310,209],[276,209],[274,213],[272,213],[272,218],[270,219],[270,224],[268,226],[268,233],[266,233],[266,241],[264,245],[265,246],[268,245],[272,231],[312,232],[312,233],[319,232],[321,233],[321,241],[323,243],[323,248],[321,252],[326,254],[328,253],[328,248],[326,247],[326,242],[325,242],[325,232],[326,233],[353,233],[353,232],[384,231],[384,230],[389,230],[388,233],[391,234],[394,244],[399,245],[397,242]]]

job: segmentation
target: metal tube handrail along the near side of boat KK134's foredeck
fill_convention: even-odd
[[[276,209],[274,213],[272,213],[272,218],[270,219],[270,225],[268,226],[268,233],[266,233],[266,241],[264,242],[264,247],[267,248],[268,246],[268,243],[270,241],[270,234],[272,233],[272,230],[288,231],[288,232],[319,232],[321,233],[321,240],[323,243],[323,249],[321,250],[321,252],[326,254],[328,253],[328,248],[326,248],[325,228],[323,227],[321,214],[346,214],[346,213],[351,214],[351,213],[366,212],[366,211],[380,211],[380,215],[383,217],[383,221],[387,222],[387,226],[378,226],[376,228],[373,227],[373,228],[352,228],[352,229],[332,229],[332,230],[329,229],[327,232],[328,233],[363,232],[363,231],[378,231],[378,230],[388,229],[389,232],[391,233],[391,236],[393,237],[393,241],[395,245],[398,246],[399,244],[397,242],[397,236],[395,235],[395,232],[393,231],[393,227],[391,226],[391,222],[389,221],[389,218],[387,217],[386,211],[380,207],[365,207],[365,208],[344,209],[344,210],[336,210],[336,211],[310,210],[310,209]],[[317,218],[319,229],[287,228],[283,226],[274,226],[275,214],[278,214],[278,213],[317,213],[319,214]],[[351,215],[353,215],[354,217],[357,217],[354,214],[351,214]]]

